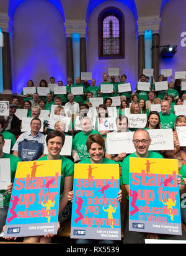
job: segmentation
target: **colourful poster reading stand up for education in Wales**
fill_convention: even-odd
[[[130,158],[129,231],[181,235],[177,159]]]

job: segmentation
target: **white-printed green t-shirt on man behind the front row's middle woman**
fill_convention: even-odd
[[[84,134],[84,132],[79,132],[75,135],[73,139],[72,149],[78,152],[80,160],[84,160],[85,158],[90,158],[89,152],[87,152],[87,137],[91,134],[100,134],[97,130],[91,130],[89,134]]]

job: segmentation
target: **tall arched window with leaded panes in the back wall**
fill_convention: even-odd
[[[124,16],[116,7],[108,7],[99,15],[99,58],[124,58]]]

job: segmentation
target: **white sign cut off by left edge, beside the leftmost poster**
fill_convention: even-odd
[[[0,190],[6,190],[11,184],[11,164],[10,159],[0,159]]]

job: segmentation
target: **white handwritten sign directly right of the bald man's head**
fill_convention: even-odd
[[[152,140],[149,150],[174,150],[172,129],[154,129],[148,132]]]

